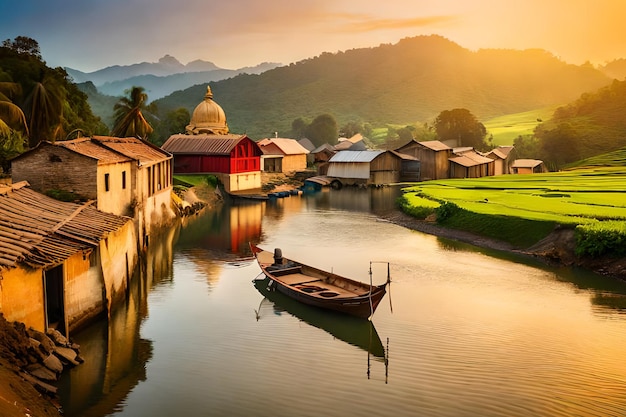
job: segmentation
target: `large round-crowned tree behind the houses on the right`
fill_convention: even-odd
[[[487,129],[467,109],[444,110],[435,119],[435,132],[440,141],[455,140],[458,146],[487,148]]]

